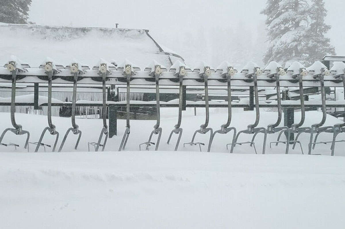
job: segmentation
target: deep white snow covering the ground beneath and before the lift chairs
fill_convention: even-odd
[[[336,149],[342,156],[334,157],[327,156],[329,145],[316,147],[322,156],[300,155],[298,149],[285,155],[284,145],[269,149],[269,144],[266,155],[255,155],[249,145],[236,146],[229,154],[225,144],[230,134],[216,136],[211,153],[197,152],[197,146],[183,148],[204,121],[200,108],[196,117],[193,109],[184,111],[179,152],[173,152],[176,136],[170,145],[166,140],[177,109],[161,110],[159,152],[137,151],[155,124],[142,120],[131,120],[123,152],[116,151],[125,120],[118,120],[118,136],[108,140],[106,151],[112,152],[85,152],[102,127],[101,120],[85,119],[77,119],[82,131],[78,151],[73,150],[73,135],[63,153],[14,152],[1,146],[1,228],[343,228],[343,143]],[[321,119],[321,112],[306,115],[309,126]],[[298,117],[296,113],[296,122]],[[0,118],[1,130],[11,126],[9,113]],[[254,118],[255,112],[234,109],[232,123],[242,130]],[[16,119],[30,131],[30,141],[37,141],[46,126],[46,116],[16,114]],[[68,118],[52,119],[61,135],[70,127]],[[216,130],[226,119],[226,109],[211,109],[210,127]],[[275,119],[276,113],[262,112],[259,125]],[[327,117],[327,125],[337,122]],[[251,137],[243,135],[242,140]],[[22,147],[24,138],[9,133],[3,142]],[[206,143],[208,135],[197,138]],[[268,142],[275,138],[269,135]],[[320,135],[320,140],[330,139],[331,134]],[[301,140],[306,151],[308,135]],[[44,142],[52,141],[49,136]],[[258,136],[258,151],[260,144]]]

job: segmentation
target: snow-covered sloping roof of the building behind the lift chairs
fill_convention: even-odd
[[[152,60],[166,67],[178,58],[167,55],[148,34],[148,30],[115,28],[81,28],[0,23],[0,65],[11,55],[18,56],[31,67],[38,67],[49,56],[56,64],[70,65],[73,59],[90,67],[100,58],[121,64],[129,59],[142,69]]]

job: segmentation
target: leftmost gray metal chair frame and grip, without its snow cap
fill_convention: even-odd
[[[19,64],[19,63],[18,63]],[[26,141],[25,141],[25,144],[24,144],[24,149],[28,149],[28,152],[29,152],[29,147],[28,147],[28,143],[29,143],[29,138],[30,138],[30,133],[29,131],[26,131],[26,130],[23,130],[22,129],[22,126],[20,124],[17,124],[16,123],[16,119],[14,117],[14,113],[16,112],[16,77],[17,77],[17,72],[18,71],[24,71],[24,69],[20,69],[20,68],[17,68],[17,63],[15,61],[10,61],[7,65],[7,68],[8,70],[10,70],[10,72],[12,73],[12,89],[11,89],[11,123],[12,123],[12,126],[14,128],[7,128],[5,129],[1,136],[0,136],[0,144],[4,145],[4,146],[7,146],[7,145],[14,145],[15,148],[16,146],[19,147],[18,144],[3,144],[2,143],[2,139],[4,137],[4,135],[10,131],[16,135],[24,135],[24,134],[27,134],[27,138],[26,138]]]

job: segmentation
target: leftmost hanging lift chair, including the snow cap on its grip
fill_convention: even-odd
[[[30,138],[30,133],[26,130],[22,129],[22,126],[20,124],[16,123],[16,119],[14,117],[14,113],[16,112],[16,79],[17,79],[17,73],[25,73],[27,72],[26,68],[29,68],[30,66],[28,64],[22,64],[21,61],[16,57],[16,56],[11,56],[11,60],[4,65],[9,72],[12,74],[12,89],[11,89],[11,123],[14,128],[7,128],[5,129],[1,136],[0,136],[0,144],[3,146],[9,146],[13,145],[14,148],[19,147],[19,144],[4,144],[2,143],[2,139],[4,135],[8,132],[11,131],[12,133],[16,135],[23,135],[27,134],[27,138],[24,144],[24,149],[28,149],[29,152],[29,138]]]

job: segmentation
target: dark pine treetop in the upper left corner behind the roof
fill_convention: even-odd
[[[31,0],[0,0],[0,22],[27,23]]]

